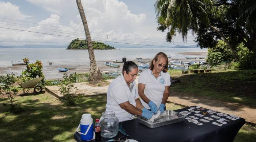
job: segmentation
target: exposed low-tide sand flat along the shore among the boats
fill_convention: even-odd
[[[182,55],[189,55],[189,56],[202,56],[202,57],[206,57],[207,52],[179,52],[177,54],[182,54]],[[153,58],[153,57],[152,57]],[[145,62],[150,62],[151,59],[149,58],[143,58],[143,61]],[[174,58],[169,58],[168,59],[169,62],[172,60],[181,60],[183,62],[191,62],[195,59],[186,59],[186,58],[180,58],[180,59],[174,59]],[[203,59],[200,59],[203,60]],[[138,62],[138,60],[132,60],[133,62],[135,62],[136,64],[142,64],[141,62]],[[101,71],[110,71],[110,72],[121,72],[122,68],[123,68],[123,63],[114,63],[114,64],[119,64],[120,67],[119,68],[113,68],[113,67],[109,67],[105,65],[105,62],[111,62],[112,60],[105,60],[105,61],[99,61],[97,62],[97,66]],[[72,68],[76,68],[75,70],[68,70],[66,73],[67,74],[71,74],[73,72],[76,73],[85,73],[85,72],[89,72],[90,70],[90,64],[89,61],[88,62],[84,62],[82,64],[70,64],[70,63],[53,63],[52,65],[48,64],[48,63],[43,63],[43,73],[45,75],[46,79],[60,79],[63,77],[64,72],[59,72],[57,70],[57,68],[60,67],[72,67]],[[20,66],[7,66],[7,67],[0,67],[0,75],[3,74],[10,74],[11,72],[13,72],[16,76],[21,75],[21,72],[24,71],[26,68],[26,65],[20,65]]]

